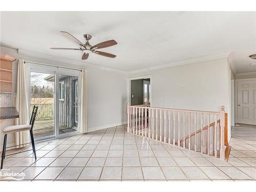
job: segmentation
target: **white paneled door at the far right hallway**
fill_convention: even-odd
[[[238,123],[256,124],[256,80],[238,81]]]

